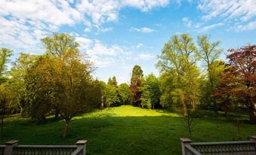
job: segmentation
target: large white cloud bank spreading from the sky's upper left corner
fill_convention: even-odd
[[[98,32],[109,32],[113,27],[101,25],[117,20],[122,8],[150,11],[168,3],[169,0],[0,0],[0,46],[35,52],[40,50],[40,38],[61,26],[82,23],[85,32],[91,32],[93,26],[100,28]],[[152,29],[145,27],[141,32]]]

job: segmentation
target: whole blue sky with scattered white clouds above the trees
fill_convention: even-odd
[[[256,43],[255,0],[0,0],[0,47],[42,54],[40,38],[67,32],[97,67],[96,78],[129,82],[134,65],[158,74],[172,35],[211,35],[224,51]],[[224,59],[224,54],[221,59]]]

